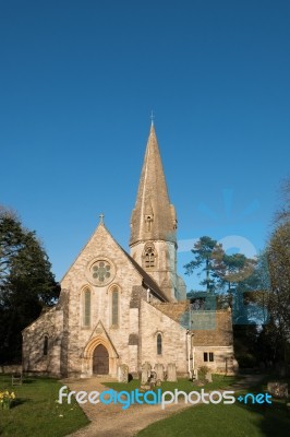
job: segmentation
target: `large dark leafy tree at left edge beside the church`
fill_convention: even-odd
[[[15,214],[0,210],[0,359],[21,361],[21,331],[45,306],[51,306],[60,287],[48,256],[34,232]]]

